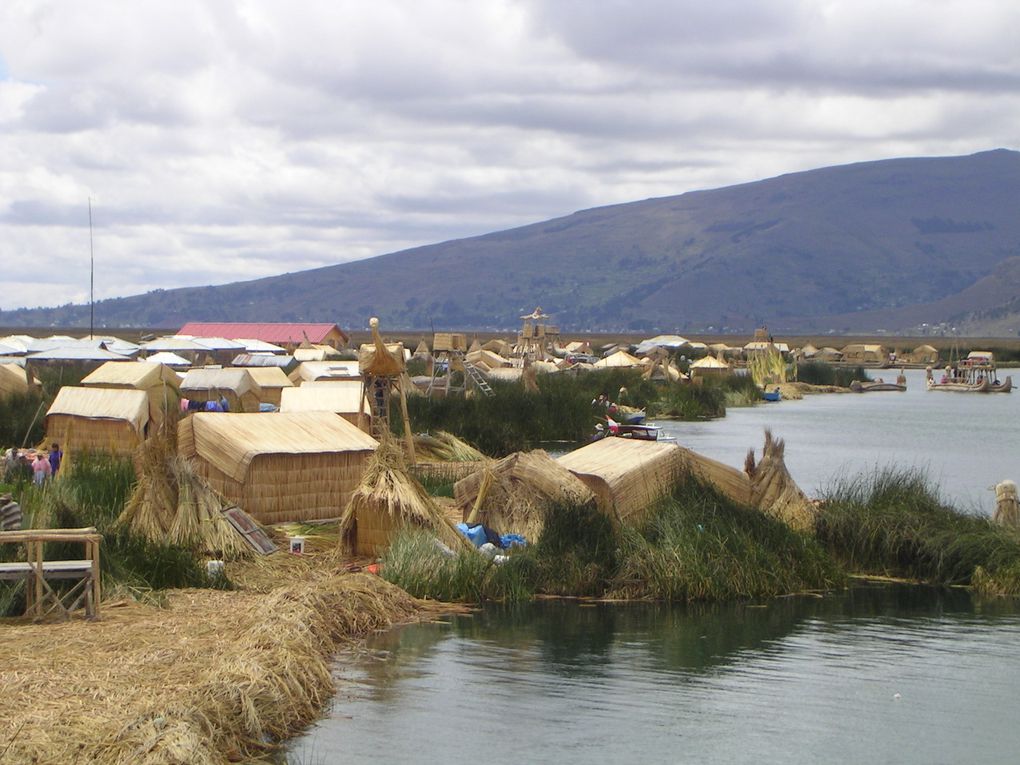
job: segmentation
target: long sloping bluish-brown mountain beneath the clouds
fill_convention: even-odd
[[[334,320],[504,328],[1020,327],[1020,153],[889,159],[582,210],[471,239],[96,304],[102,323]],[[0,324],[88,322],[88,307]],[[983,323],[982,323],[983,322]]]

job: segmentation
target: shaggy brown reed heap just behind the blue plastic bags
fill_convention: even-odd
[[[500,533],[529,542],[542,536],[546,515],[557,504],[595,499],[592,490],[545,451],[517,452],[461,478],[454,498],[468,523],[484,523]]]

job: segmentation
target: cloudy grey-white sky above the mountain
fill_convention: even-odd
[[[0,309],[1020,148],[1016,0],[0,3]]]

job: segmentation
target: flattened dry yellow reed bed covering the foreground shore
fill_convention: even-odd
[[[257,757],[319,713],[338,645],[426,608],[336,570],[268,594],[177,591],[99,622],[8,622],[0,763],[181,763]]]

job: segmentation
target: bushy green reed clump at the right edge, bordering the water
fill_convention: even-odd
[[[921,471],[886,468],[826,492],[819,541],[852,570],[1020,594],[1020,536],[948,506]]]

